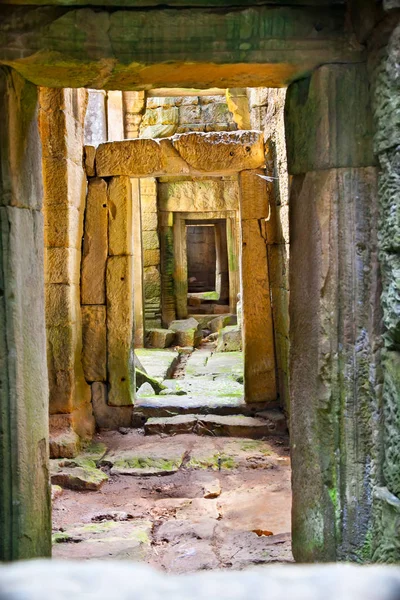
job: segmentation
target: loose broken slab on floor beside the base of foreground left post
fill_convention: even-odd
[[[52,461],[53,462],[53,461]],[[89,459],[61,460],[51,464],[51,483],[78,491],[97,491],[108,480],[108,475],[96,468]]]

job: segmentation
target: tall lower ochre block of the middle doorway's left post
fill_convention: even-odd
[[[133,404],[133,274],[131,256],[107,260],[107,369],[112,406]]]

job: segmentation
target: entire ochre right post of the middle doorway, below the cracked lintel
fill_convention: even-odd
[[[246,402],[274,402],[275,351],[265,231],[269,201],[259,173],[239,174],[244,395]]]

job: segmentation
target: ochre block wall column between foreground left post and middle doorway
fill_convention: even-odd
[[[80,441],[90,438],[94,430],[90,388],[81,360],[86,102],[85,90],[40,90],[50,450],[55,457],[75,455]],[[88,293],[84,288],[83,294]]]

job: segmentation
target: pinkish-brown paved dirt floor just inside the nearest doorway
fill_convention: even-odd
[[[173,573],[293,561],[286,438],[132,429],[95,441],[106,446],[98,464],[109,478],[98,491],[55,488],[54,557],[141,560]]]

